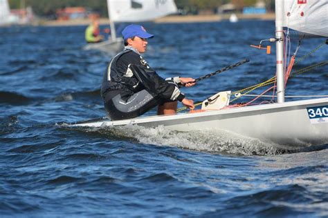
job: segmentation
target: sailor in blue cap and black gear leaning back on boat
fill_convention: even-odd
[[[147,39],[154,34],[143,26],[129,25],[122,31],[125,49],[109,62],[102,80],[104,108],[112,120],[130,119],[158,106],[158,115],[176,113],[177,101],[194,109],[194,101],[185,98],[181,86],[194,86],[186,77],[163,79],[141,57],[147,49]]]

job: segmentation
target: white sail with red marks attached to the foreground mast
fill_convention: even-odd
[[[305,34],[328,37],[328,1],[284,0],[282,24]]]

